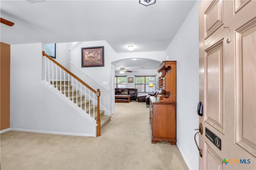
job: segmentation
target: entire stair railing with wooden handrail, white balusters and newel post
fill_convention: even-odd
[[[54,83],[56,83],[56,89],[58,90],[58,83],[60,85],[60,93],[63,93],[64,97],[67,97],[70,99],[73,103],[79,107],[80,105],[80,111],[84,112],[85,114],[88,114],[90,117],[93,117],[95,120],[95,107],[93,107],[93,116],[91,115],[91,108],[90,108],[90,99],[92,98],[93,106],[95,105],[95,94],[97,96],[97,120],[96,124],[96,135],[100,136],[100,89],[94,90],[92,87],[90,87],[88,84],[86,84],[84,81],[82,81],[80,78],[78,78],[76,75],[74,75],[72,72],[70,72],[68,69],[66,69],[64,66],[62,66],[60,63],[52,59],[49,55],[47,55],[44,51],[42,51],[42,55],[45,56],[44,58],[44,81],[47,82],[49,85],[52,85],[54,87]],[[51,62],[50,62],[51,61]],[[51,63],[51,64],[50,64]],[[59,69],[59,71],[58,71]],[[63,72],[63,75],[62,75]],[[63,81],[63,82],[62,82]],[[72,87],[70,86],[70,83],[68,83],[68,87],[66,87],[66,81],[72,83]],[[62,83],[64,83],[64,89],[62,89]],[[75,87],[75,89],[74,89]],[[70,93],[70,88],[72,88],[72,93]],[[86,92],[87,90],[87,92]],[[76,95],[74,95],[74,91]],[[78,92],[79,91],[79,92]],[[66,94],[67,93],[67,94]],[[79,94],[80,93],[80,94]],[[89,98],[89,108],[86,108],[86,102],[84,103],[84,108],[82,107],[82,97],[84,94],[84,101],[86,101],[86,96]],[[80,102],[78,101],[78,96],[80,95]],[[74,99],[74,96],[76,99]],[[76,101],[74,101],[76,100]],[[84,110],[83,110],[84,109]],[[88,110],[88,112],[87,112]]]

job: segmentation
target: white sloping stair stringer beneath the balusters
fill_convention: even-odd
[[[60,98],[62,101],[64,101],[69,107],[71,107],[72,109],[74,109],[74,111],[76,111],[81,117],[83,117],[84,119],[86,119],[91,125],[94,126],[93,128],[93,137],[96,137],[97,132],[96,132],[96,127],[98,126],[96,123],[96,120],[91,117],[88,114],[85,114],[84,111],[78,107],[78,105],[76,105],[73,101],[71,101],[70,99],[68,99],[68,97],[66,97],[64,94],[62,94],[60,91],[58,91],[58,89],[56,89],[54,86],[52,86],[51,84],[49,84],[47,81],[44,80],[39,80],[40,83],[42,83],[47,89],[49,89],[54,95],[56,95],[58,98]]]

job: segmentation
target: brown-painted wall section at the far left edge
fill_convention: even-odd
[[[10,128],[10,45],[0,46],[0,130],[4,130]]]

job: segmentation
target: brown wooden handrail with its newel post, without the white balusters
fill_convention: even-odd
[[[97,136],[100,136],[100,89],[94,90],[92,89],[92,87],[90,87],[88,84],[86,84],[84,81],[82,81],[80,78],[78,78],[76,75],[74,75],[72,72],[70,72],[68,69],[66,69],[64,66],[62,66],[60,63],[58,63],[57,61],[55,61],[54,59],[52,59],[52,57],[50,57],[49,55],[47,55],[44,51],[42,51],[42,55],[47,57],[48,59],[50,59],[52,62],[54,62],[56,65],[58,65],[60,68],[62,68],[64,71],[66,71],[68,74],[70,74],[72,77],[74,77],[75,79],[77,79],[80,83],[82,83],[85,87],[87,87],[88,89],[90,89],[93,93],[96,93],[97,96]]]

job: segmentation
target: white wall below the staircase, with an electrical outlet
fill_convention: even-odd
[[[10,60],[11,130],[93,134],[92,125],[84,117],[40,82],[42,43],[11,45]]]

